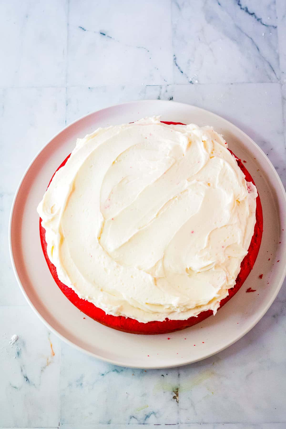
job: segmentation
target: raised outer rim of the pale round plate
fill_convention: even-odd
[[[113,365],[117,365],[117,366],[123,366],[123,367],[127,367],[127,368],[137,368],[137,369],[165,369],[165,368],[172,368],[172,367],[179,367],[179,366],[185,366],[185,365],[190,365],[191,363],[196,363],[199,362],[201,360],[207,359],[210,356],[214,356],[217,353],[220,353],[221,351],[225,350],[227,347],[231,346],[232,344],[234,344],[236,341],[240,340],[244,335],[247,334],[247,332],[250,332],[251,329],[253,329],[253,327],[259,322],[259,320],[262,319],[262,317],[265,315],[265,313],[268,311],[268,309],[270,308],[270,306],[272,305],[272,303],[274,302],[274,299],[277,297],[277,294],[279,292],[279,290],[282,287],[283,281],[286,277],[286,266],[284,266],[283,269],[283,273],[280,277],[280,280],[277,281],[277,287],[274,290],[271,299],[269,299],[269,301],[264,305],[263,309],[261,309],[259,311],[258,316],[253,320],[253,322],[250,324],[250,326],[247,326],[246,329],[244,329],[243,332],[241,332],[239,335],[235,336],[235,338],[232,341],[229,341],[227,344],[225,344],[224,346],[220,347],[218,350],[216,350],[214,353],[210,352],[210,353],[206,353],[204,356],[202,356],[199,359],[185,359],[183,360],[183,362],[180,363],[176,363],[176,364],[171,364],[171,365],[145,365],[145,366],[141,366],[141,365],[135,365],[135,366],[129,366],[126,365],[120,361],[117,360],[113,360],[113,359],[109,359],[107,357],[102,357],[99,356],[96,353],[91,352],[90,350],[86,350],[84,347],[79,346],[78,344],[75,344],[74,342],[72,342],[71,340],[69,340],[68,338],[66,338],[63,334],[61,334],[60,332],[57,331],[57,329],[55,329],[54,327],[52,327],[46,320],[45,318],[42,316],[42,314],[40,314],[40,312],[36,309],[36,307],[33,305],[33,303],[30,301],[29,297],[27,296],[27,293],[24,289],[24,286],[21,283],[20,277],[18,275],[17,272],[17,268],[15,265],[15,260],[14,260],[14,256],[13,256],[13,249],[12,249],[12,218],[13,218],[13,213],[14,213],[14,208],[15,208],[15,202],[17,200],[18,197],[18,193],[20,191],[21,185],[24,181],[24,178],[26,177],[27,173],[29,172],[31,166],[33,165],[33,163],[35,162],[35,160],[39,157],[39,155],[42,153],[42,151],[57,137],[59,136],[61,133],[63,133],[63,131],[65,131],[66,129],[68,129],[69,127],[72,127],[72,125],[82,121],[83,119],[92,116],[98,112],[102,112],[105,110],[109,110],[111,108],[116,108],[116,107],[120,107],[120,106],[126,106],[128,104],[145,104],[145,103],[158,103],[158,104],[166,104],[166,103],[172,103],[172,105],[180,105],[180,106],[187,106],[187,108],[195,108],[198,109],[199,111],[201,111],[202,113],[206,112],[206,113],[211,113],[211,115],[214,115],[214,117],[219,118],[220,120],[223,119],[223,121],[225,121],[227,124],[229,124],[232,128],[234,128],[236,131],[239,131],[239,133],[242,133],[242,135],[244,137],[246,137],[247,139],[249,139],[252,144],[256,147],[256,149],[258,149],[258,151],[260,152],[260,154],[262,155],[262,157],[266,160],[266,162],[268,163],[268,166],[271,167],[272,172],[274,172],[274,176],[276,178],[276,180],[278,181],[278,184],[280,185],[280,192],[278,192],[281,196],[283,195],[283,199],[284,199],[284,203],[286,206],[286,191],[285,188],[283,186],[283,183],[277,173],[277,171],[275,170],[273,164],[271,163],[271,161],[268,159],[268,157],[266,156],[266,154],[262,151],[262,149],[259,147],[259,145],[256,144],[256,142],[254,142],[254,140],[248,136],[243,130],[241,130],[241,128],[237,127],[235,124],[232,124],[232,122],[228,121],[227,119],[223,118],[223,116],[217,115],[216,113],[211,112],[210,110],[207,109],[202,109],[201,107],[195,106],[193,104],[187,104],[187,103],[180,103],[177,101],[169,101],[169,100],[134,100],[134,101],[128,101],[125,103],[118,103],[118,104],[114,104],[108,107],[105,107],[103,109],[97,109],[93,112],[89,112],[86,115],[81,116],[80,118],[76,119],[75,121],[72,121],[70,124],[66,125],[65,127],[63,127],[58,133],[56,133],[51,139],[48,140],[47,143],[45,143],[45,145],[42,146],[42,148],[36,153],[36,155],[33,157],[33,159],[31,160],[31,162],[29,163],[29,165],[27,166],[27,168],[24,171],[24,174],[21,177],[21,180],[17,186],[17,189],[15,191],[15,195],[13,197],[13,201],[12,201],[12,206],[11,206],[11,210],[10,210],[10,215],[9,215],[9,228],[8,228],[8,235],[9,235],[9,254],[10,254],[10,259],[11,259],[11,263],[12,263],[12,269],[15,275],[15,278],[18,282],[18,285],[20,287],[20,290],[22,291],[26,301],[28,302],[28,304],[30,305],[30,307],[32,308],[32,310],[34,311],[34,313],[39,317],[39,319],[42,321],[42,323],[45,324],[45,326],[51,331],[53,332],[58,338],[60,338],[62,341],[64,341],[66,344],[69,344],[70,346],[74,347],[77,350],[80,350],[81,352],[86,353],[89,356],[93,356],[96,359],[111,363]],[[285,244],[286,247],[286,244]],[[131,334],[130,334],[131,335]],[[140,335],[140,334],[138,334]]]

